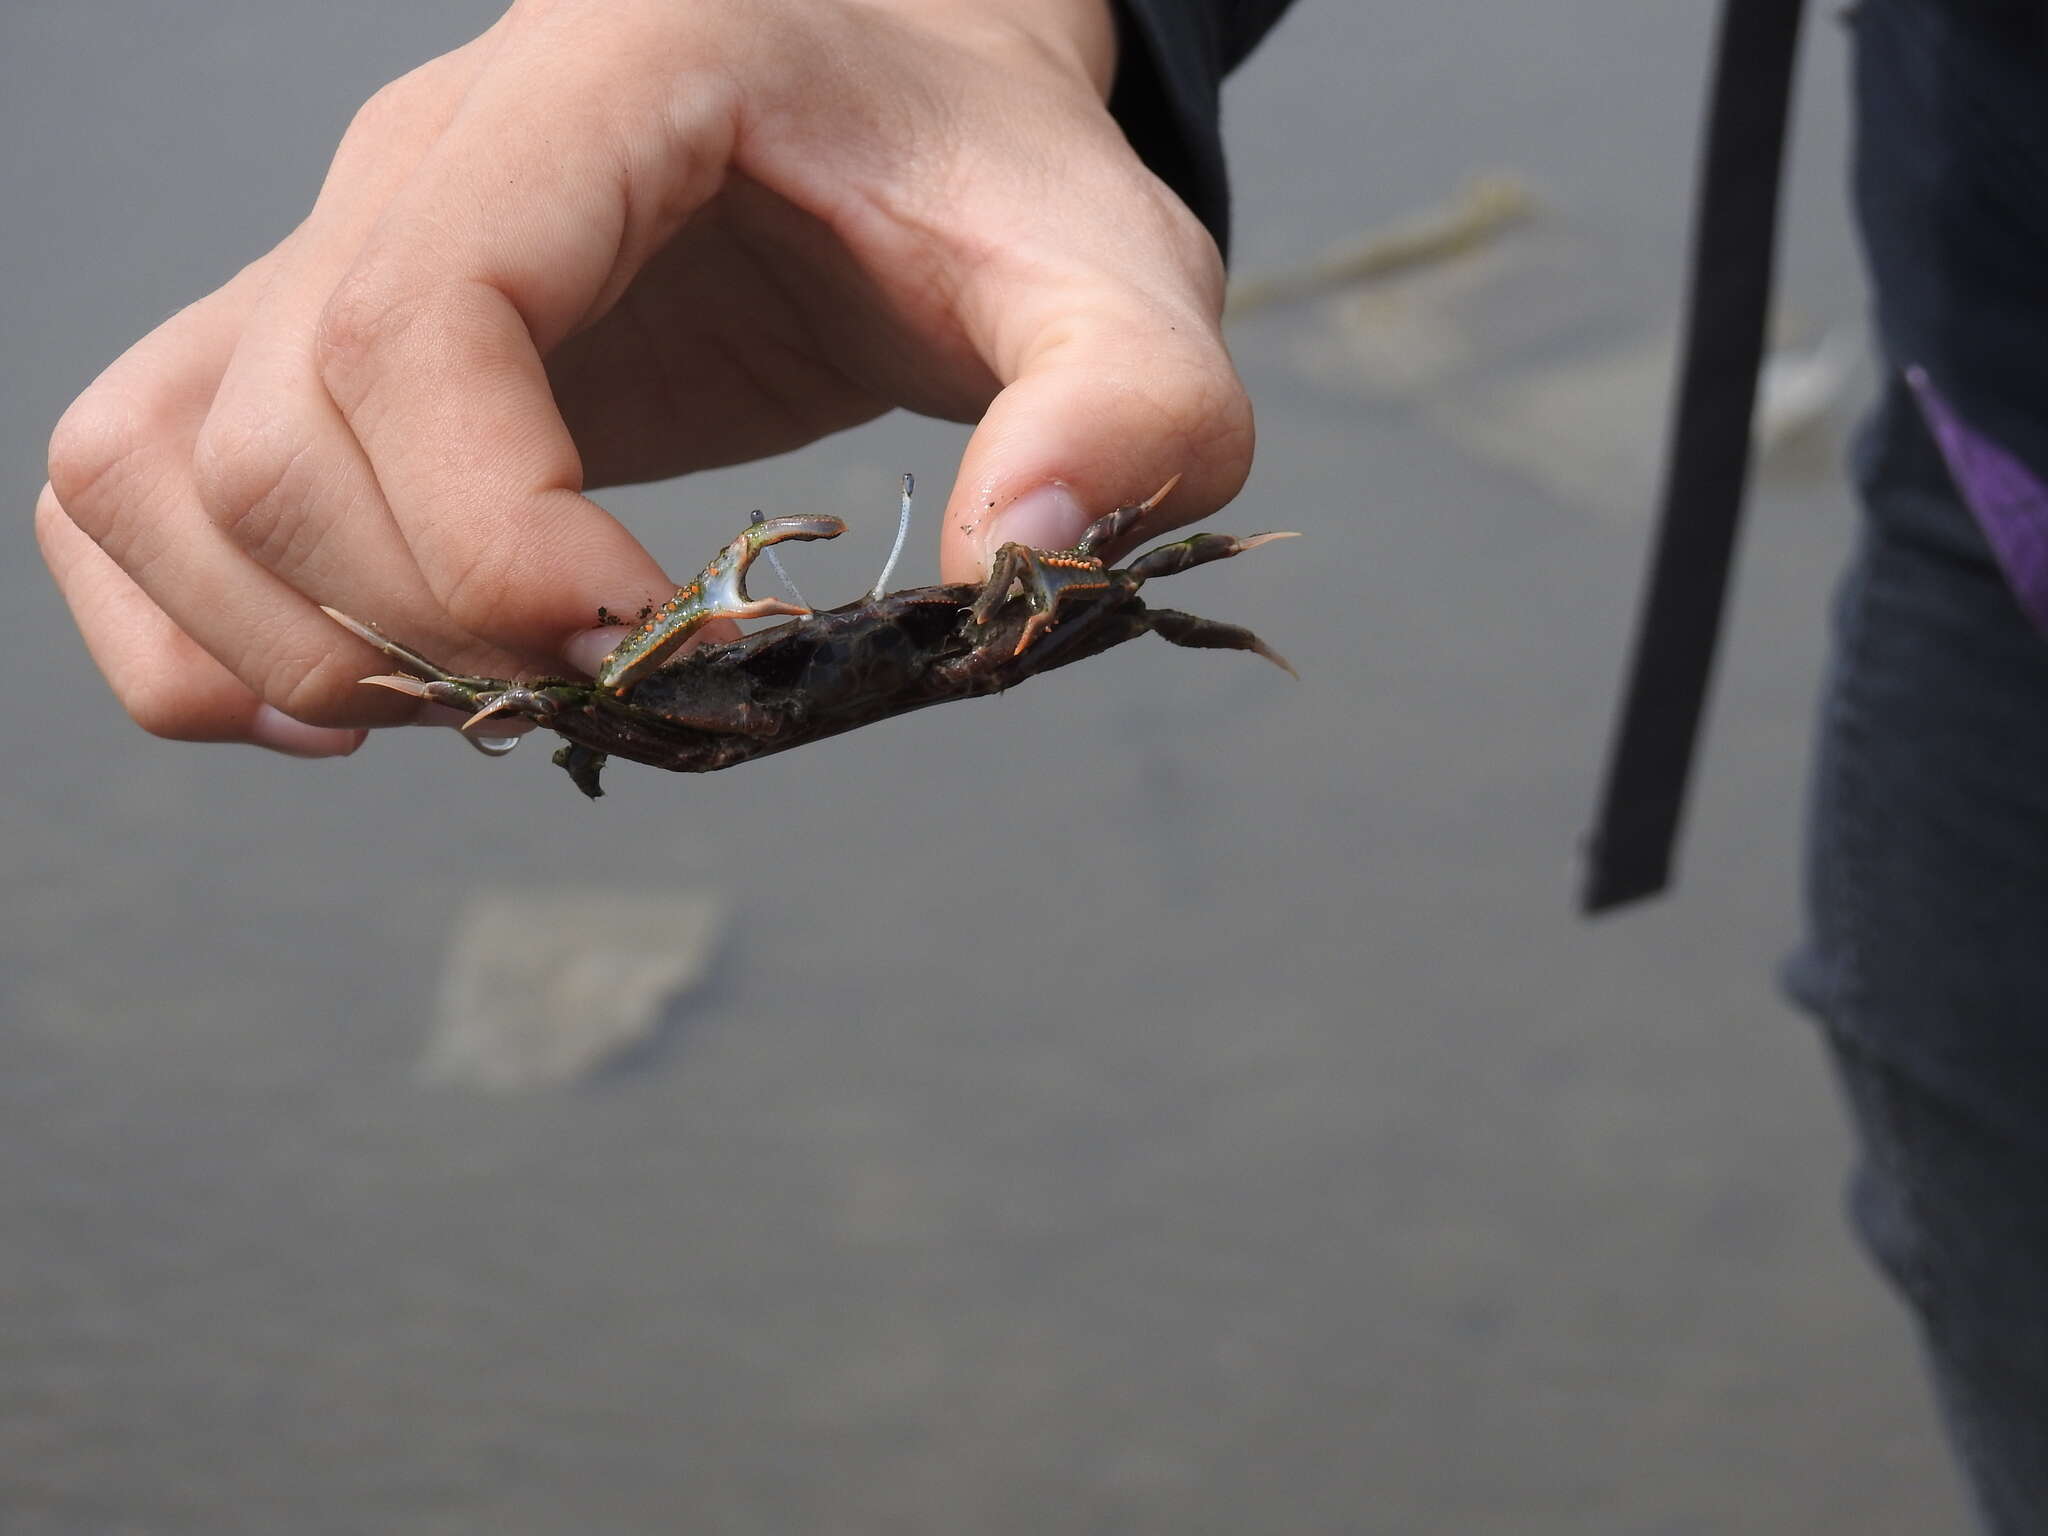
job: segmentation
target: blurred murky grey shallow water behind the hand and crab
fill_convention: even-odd
[[[1851,518],[1825,434],[1757,506],[1683,889],[1599,926],[1571,848],[1642,516],[1542,494],[1454,389],[1348,383],[1313,305],[1239,328],[1262,453],[1219,520],[1311,539],[1174,598],[1300,686],[1128,647],[598,807],[539,750],[127,725],[27,537],[51,422],[487,16],[0,8],[0,1530],[1956,1530],[1769,979]],[[1509,166],[1556,324],[1473,311],[1464,379],[1655,338],[1708,29],[1305,4],[1229,98],[1241,266]],[[1821,27],[1786,252],[1821,326],[1862,305],[1843,117]],[[1647,465],[1661,408],[1581,426]],[[678,569],[750,506],[846,512],[805,571],[854,590],[958,440],[608,502]],[[733,913],[662,1049],[416,1085],[457,907],[592,881]]]

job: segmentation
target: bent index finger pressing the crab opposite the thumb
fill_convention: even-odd
[[[723,88],[678,90],[680,104],[659,113],[616,111],[616,90],[582,78],[602,74],[602,49],[573,68],[545,63],[479,82],[319,328],[324,385],[434,598],[465,631],[520,653],[559,653],[598,604],[670,590],[580,494],[541,356],[717,186],[731,139]],[[621,121],[659,129],[627,133]]]

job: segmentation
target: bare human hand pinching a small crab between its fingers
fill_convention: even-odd
[[[37,535],[117,696],[301,756],[410,721],[319,604],[590,670],[674,584],[586,487],[895,406],[979,420],[944,580],[1174,473],[1147,532],[1208,514],[1251,457],[1221,262],[1112,55],[1104,0],[518,0],[59,422]]]

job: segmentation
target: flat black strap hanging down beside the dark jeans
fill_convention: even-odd
[[[1657,551],[1587,840],[1585,911],[1671,881],[1749,479],[1798,23],[1800,0],[1726,0],[1720,12]]]

